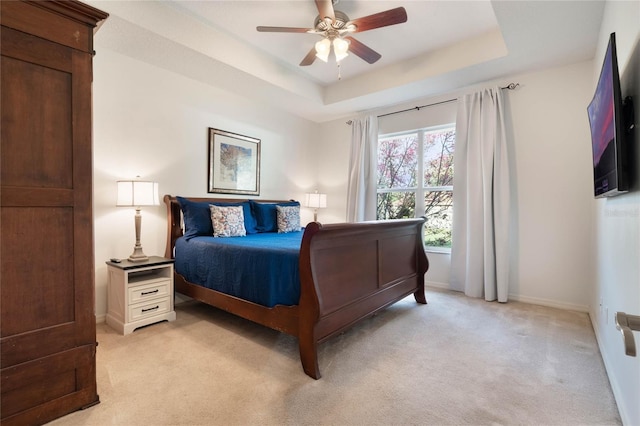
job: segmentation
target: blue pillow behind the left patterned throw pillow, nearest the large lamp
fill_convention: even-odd
[[[211,210],[209,210],[209,206],[211,204],[216,206],[242,206],[242,213],[244,214],[244,227],[247,231],[247,234],[255,234],[258,232],[258,230],[256,229],[256,218],[252,214],[251,204],[249,203],[249,201],[240,201],[237,203],[210,203],[208,201],[190,201],[183,197],[176,197],[176,199],[178,200],[180,208],[182,209],[182,216],[185,227],[184,236],[187,239],[191,239],[200,235],[213,235]]]

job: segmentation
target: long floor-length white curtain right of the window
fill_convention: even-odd
[[[499,87],[458,99],[451,288],[506,302],[510,182]]]

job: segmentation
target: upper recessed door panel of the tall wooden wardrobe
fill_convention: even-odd
[[[2,105],[11,105],[2,126],[3,185],[71,188],[71,73],[10,57],[2,61]],[[21,117],[32,120],[23,123]]]

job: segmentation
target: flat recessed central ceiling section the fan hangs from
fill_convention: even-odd
[[[258,25],[313,28],[318,9],[313,0],[298,1],[174,1],[177,8],[192,13],[223,29],[234,37],[255,46],[292,68],[298,64],[314,43],[313,34],[259,33]],[[353,35],[374,50],[382,59],[370,65],[351,56],[342,62],[342,77],[347,79],[398,63],[435,49],[498,29],[493,9],[488,1],[371,1],[341,0],[336,10],[351,19],[403,6],[409,16],[407,23],[383,27]],[[451,31],[450,28],[456,28]],[[322,85],[337,80],[335,61],[314,62],[301,67],[300,72]]]

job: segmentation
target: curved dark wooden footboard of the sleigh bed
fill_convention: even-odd
[[[413,293],[427,303],[424,219],[307,225],[300,252],[300,358],[320,378],[317,345]]]

